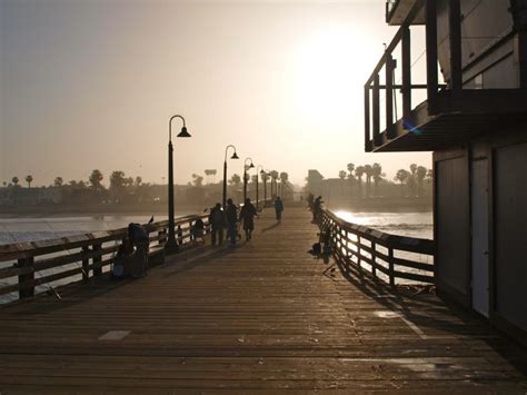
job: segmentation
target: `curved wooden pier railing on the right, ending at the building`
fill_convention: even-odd
[[[322,210],[320,230],[329,231],[331,251],[345,266],[391,286],[434,284],[434,240],[385,234],[348,223],[329,210]]]

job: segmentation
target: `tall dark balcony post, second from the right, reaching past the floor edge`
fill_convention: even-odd
[[[438,89],[437,67],[437,0],[426,3],[426,63],[428,108],[434,113]]]

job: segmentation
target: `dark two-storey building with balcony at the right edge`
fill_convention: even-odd
[[[434,151],[438,294],[527,342],[527,0],[389,0],[386,17],[400,28],[365,86],[366,151]]]

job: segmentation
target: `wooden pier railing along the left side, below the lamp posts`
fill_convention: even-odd
[[[203,233],[207,234],[208,215],[187,216],[176,220],[176,240],[181,247],[192,243],[190,226],[198,218],[205,223]],[[150,239],[150,264],[160,264],[165,259],[168,220],[145,227]],[[121,228],[0,246],[0,265],[3,266],[0,267],[0,297],[18,293],[19,298],[26,298],[33,296],[36,292],[100,277],[106,271],[105,268],[113,264],[119,245],[127,235],[128,229]]]

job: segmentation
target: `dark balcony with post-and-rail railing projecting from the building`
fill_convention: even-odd
[[[394,12],[399,3],[398,0],[387,2],[387,11]],[[408,134],[421,134],[421,127],[434,120],[447,120],[445,115],[491,115],[501,112],[521,112],[521,106],[527,102],[525,97],[525,86],[527,76],[525,63],[520,67],[520,89],[467,89],[464,88],[464,66],[461,59],[461,8],[460,0],[450,0],[448,2],[448,31],[445,41],[445,48],[449,56],[446,83],[439,81],[438,48],[443,41],[438,42],[438,1],[437,0],[417,0],[410,9],[408,17],[401,23],[391,42],[386,47],[382,57],[374,69],[365,85],[365,149],[375,150],[434,150],[436,149],[438,134],[427,134],[419,141],[408,147],[399,137],[407,140]],[[422,53],[426,60],[426,67],[421,73],[420,83],[415,83],[419,73],[415,72],[411,59],[411,30],[410,27],[417,16],[425,14],[426,27],[426,49]],[[510,40],[513,33],[501,40]],[[520,36],[521,38],[521,36]],[[525,34],[523,36],[524,40]],[[499,48],[500,40],[496,40],[493,46]],[[524,43],[525,46],[525,43]],[[400,49],[400,55],[397,52]],[[491,51],[488,48],[487,51]],[[525,49],[524,49],[525,51]],[[398,65],[400,63],[400,65]],[[471,65],[468,65],[470,67]],[[465,66],[467,67],[467,66]],[[399,80],[396,81],[396,71]],[[424,81],[422,81],[424,78]],[[420,90],[424,101],[418,106],[412,106],[416,90]],[[399,92],[401,97],[401,116],[397,113],[397,98]],[[384,108],[381,108],[381,96],[384,95]],[[412,97],[414,96],[414,97]],[[498,99],[501,98],[501,99]],[[523,112],[521,112],[523,113]],[[450,122],[453,120],[449,120]],[[470,124],[468,120],[466,124]],[[478,119],[483,125],[483,117]],[[431,126],[430,126],[431,127]],[[460,127],[455,125],[455,127]],[[435,125],[434,132],[444,130],[445,125]],[[451,129],[451,128],[450,128]],[[473,128],[474,129],[474,128]],[[453,130],[453,129],[451,129]],[[468,130],[468,129],[467,129]],[[464,130],[465,132],[466,130]],[[469,131],[467,131],[468,134]],[[457,138],[461,137],[461,132]],[[441,144],[446,144],[445,135],[440,137]],[[397,144],[391,144],[397,140]],[[397,149],[394,147],[397,146]]]

